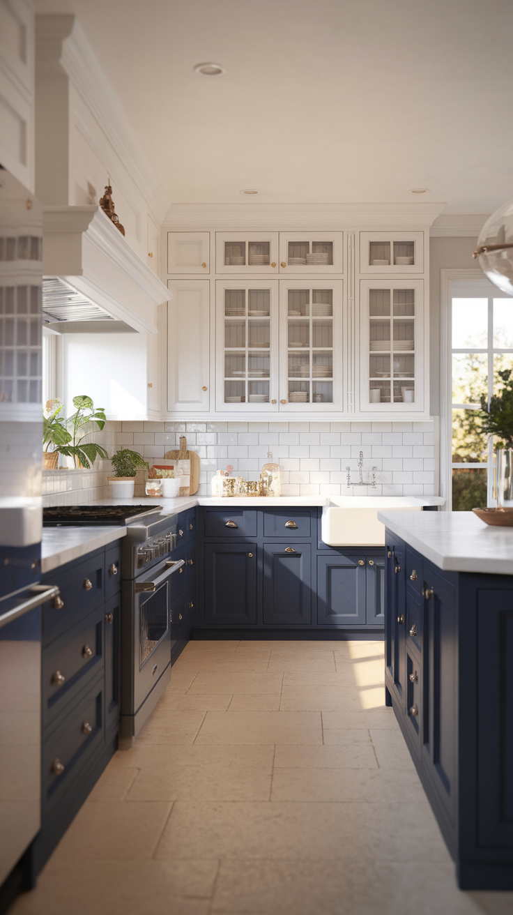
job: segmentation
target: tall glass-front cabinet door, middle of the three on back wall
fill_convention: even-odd
[[[342,409],[342,281],[280,281],[280,412]]]

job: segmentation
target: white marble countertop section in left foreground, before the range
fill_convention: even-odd
[[[117,527],[44,527],[41,538],[41,573],[52,572],[59,565],[80,559],[101,546],[126,536],[126,528]]]

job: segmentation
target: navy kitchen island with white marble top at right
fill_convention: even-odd
[[[462,889],[513,888],[513,529],[379,512],[385,684]]]

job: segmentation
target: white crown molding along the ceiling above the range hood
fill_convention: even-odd
[[[160,224],[169,210],[166,190],[79,20],[68,14],[47,14],[36,16],[36,23],[37,67],[48,72],[60,66],[68,75]]]

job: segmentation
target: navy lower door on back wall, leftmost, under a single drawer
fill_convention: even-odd
[[[205,544],[205,622],[256,623],[257,544]]]

